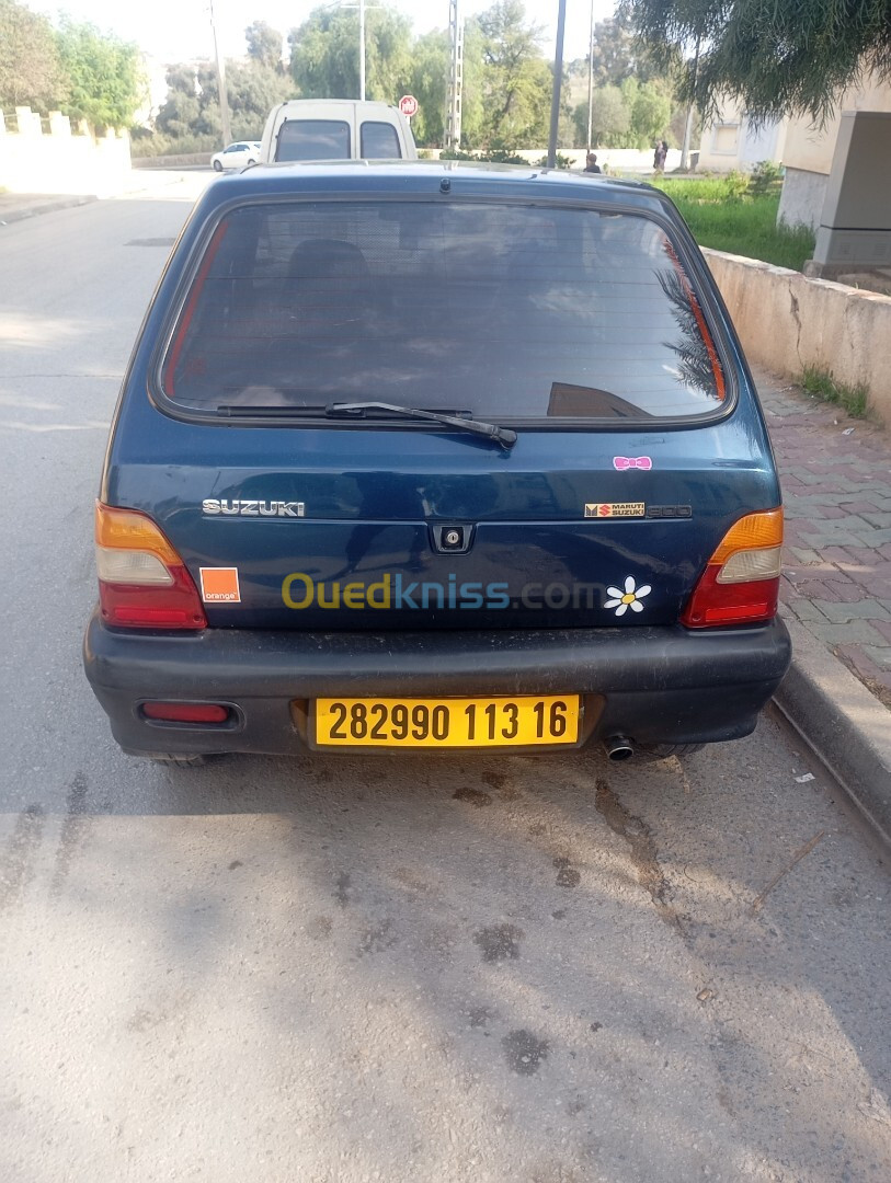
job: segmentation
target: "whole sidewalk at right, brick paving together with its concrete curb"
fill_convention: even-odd
[[[755,371],[786,508],[774,696],[891,842],[891,434]]]

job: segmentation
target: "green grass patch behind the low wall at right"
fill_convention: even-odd
[[[779,187],[751,195],[740,174],[696,181],[657,179],[684,216],[699,246],[761,259],[801,271],[813,258],[814,235],[806,227],[777,227]]]

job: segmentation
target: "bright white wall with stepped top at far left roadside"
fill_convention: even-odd
[[[130,141],[109,132],[78,134],[58,111],[41,119],[17,108],[8,125],[0,118],[0,187],[11,193],[121,193],[130,176]],[[49,124],[49,125],[47,125]]]

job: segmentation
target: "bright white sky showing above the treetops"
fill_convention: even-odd
[[[356,0],[346,0],[355,4]],[[448,0],[387,0],[412,21],[415,33],[448,25]],[[488,8],[492,0],[459,0],[470,17]],[[28,7],[56,15],[56,8],[41,0],[26,0]],[[594,20],[611,17],[615,0],[593,0]],[[265,20],[288,34],[301,25],[318,0],[214,0],[220,51],[238,58],[245,52],[244,31],[254,20]],[[567,62],[587,56],[592,0],[567,0],[563,57]],[[211,57],[208,0],[67,0],[59,6],[75,20],[89,20],[103,32],[112,32],[162,63]],[[332,5],[334,7],[334,5]],[[554,56],[557,0],[525,0],[527,17],[545,28],[542,51]]]

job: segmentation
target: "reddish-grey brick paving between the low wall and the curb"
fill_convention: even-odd
[[[786,506],[780,599],[891,707],[891,435],[755,377]]]

